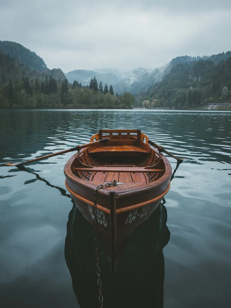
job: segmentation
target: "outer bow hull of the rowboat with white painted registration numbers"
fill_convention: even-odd
[[[67,181],[66,187],[80,213],[91,225],[95,226],[93,202],[90,200],[87,202],[83,197],[81,198],[68,186]],[[108,198],[104,198],[104,206],[98,205],[97,200],[97,231],[110,258],[112,272],[115,272],[116,263],[132,233],[157,209],[169,187],[170,180],[163,193],[149,200],[145,199],[145,195],[150,195],[150,192],[140,193],[140,196],[136,194],[136,200],[143,199],[140,204],[132,204],[133,198],[131,197],[128,199],[126,197],[116,198],[118,196],[113,190],[111,190]],[[77,190],[81,191],[81,189]],[[155,189],[152,190],[151,194],[157,194]],[[110,202],[110,197],[113,200],[112,202]],[[125,203],[126,206],[124,207]]]

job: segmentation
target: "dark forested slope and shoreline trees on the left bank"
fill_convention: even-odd
[[[0,51],[1,108],[132,108],[134,103],[130,92],[115,95],[112,85],[98,85],[95,77],[86,87],[76,80],[70,84],[60,69],[31,69]]]

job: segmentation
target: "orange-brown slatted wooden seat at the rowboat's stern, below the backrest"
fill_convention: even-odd
[[[106,145],[94,150],[89,150],[89,154],[92,157],[102,157],[102,156],[147,156],[149,151],[140,148],[136,145]]]

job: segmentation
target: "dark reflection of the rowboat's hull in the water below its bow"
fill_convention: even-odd
[[[115,273],[100,245],[103,302],[110,308],[163,307],[164,255],[170,232],[167,211],[160,204],[124,247]],[[81,308],[99,306],[93,227],[74,206],[69,214],[65,258]]]

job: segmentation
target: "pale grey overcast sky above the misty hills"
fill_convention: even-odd
[[[0,40],[49,68],[155,68],[231,50],[231,0],[0,0]]]

